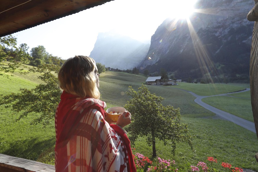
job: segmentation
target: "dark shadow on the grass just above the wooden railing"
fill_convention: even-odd
[[[52,151],[54,151],[55,148],[55,141],[55,137],[49,139],[37,137],[23,140],[14,140],[13,142],[9,143],[10,148],[2,153],[34,161],[38,161],[38,158],[44,159],[43,156],[48,156],[52,159],[54,158],[54,153]],[[46,160],[46,162],[48,161],[51,160]]]

